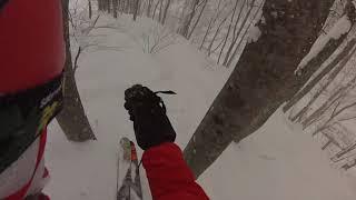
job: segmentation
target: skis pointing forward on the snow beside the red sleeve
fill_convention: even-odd
[[[128,138],[120,140],[117,200],[142,200],[142,188],[139,173],[139,163],[135,143]]]

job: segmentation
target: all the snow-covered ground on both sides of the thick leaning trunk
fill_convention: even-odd
[[[123,109],[123,91],[135,83],[154,90],[174,90],[162,96],[184,148],[230,69],[215,66],[180,38],[158,53],[145,53],[145,33],[151,21],[118,20],[120,29],[96,29],[105,36],[100,46],[79,59],[77,81],[97,141],[67,141],[57,122],[49,127],[47,166],[52,177],[46,188],[55,200],[115,199],[117,148],[120,137],[134,139],[132,123]],[[100,18],[99,23],[106,23]],[[147,51],[146,51],[147,52]],[[139,154],[141,152],[139,151]],[[145,177],[145,170],[141,170]],[[145,199],[151,199],[146,179]],[[200,177],[211,199],[221,200],[348,200],[347,180],[332,169],[328,159],[280,111],[255,134],[230,144]]]

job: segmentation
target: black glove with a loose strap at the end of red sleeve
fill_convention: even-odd
[[[141,84],[135,84],[125,91],[125,108],[134,121],[137,143],[144,150],[176,140],[176,132],[166,116],[165,103],[157,93],[175,92],[152,92]]]

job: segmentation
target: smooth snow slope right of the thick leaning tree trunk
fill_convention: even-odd
[[[293,129],[278,110],[255,134],[230,144],[199,182],[211,199],[355,199],[312,137]]]

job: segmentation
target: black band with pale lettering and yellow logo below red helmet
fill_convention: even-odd
[[[62,108],[62,74],[17,93],[0,94],[0,173],[43,132]]]

